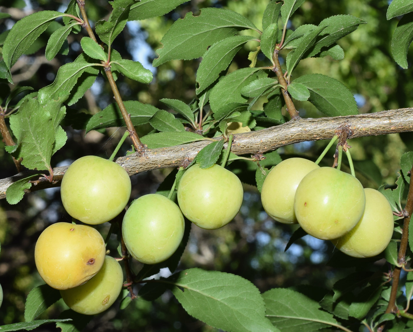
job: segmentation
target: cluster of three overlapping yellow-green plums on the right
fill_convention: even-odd
[[[307,159],[276,165],[264,180],[261,201],[276,221],[299,223],[349,256],[380,254],[393,235],[392,208],[383,194],[363,189],[348,173]]]

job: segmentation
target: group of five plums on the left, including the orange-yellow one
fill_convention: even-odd
[[[134,200],[123,217],[122,236],[129,253],[145,264],[160,263],[178,248],[184,215],[199,227],[220,228],[242,204],[243,189],[235,174],[214,164],[195,164],[178,185],[178,204],[160,194]],[[90,225],[112,220],[125,208],[131,180],[118,164],[95,156],[69,166],[61,185],[62,203],[73,218]],[[59,289],[74,311],[94,315],[111,306],[123,285],[115,258],[105,256],[100,233],[88,225],[55,223],[36,242],[36,267],[43,280]]]

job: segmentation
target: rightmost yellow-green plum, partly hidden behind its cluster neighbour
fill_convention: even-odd
[[[392,239],[394,221],[386,197],[366,188],[366,208],[361,220],[346,235],[332,240],[337,249],[353,257],[372,257],[386,249]]]

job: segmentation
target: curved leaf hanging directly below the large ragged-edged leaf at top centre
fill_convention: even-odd
[[[208,88],[219,77],[221,71],[228,68],[235,54],[244,43],[256,38],[251,36],[233,36],[218,41],[202,56],[197,70],[197,94]]]

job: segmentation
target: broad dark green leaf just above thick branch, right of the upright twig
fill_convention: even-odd
[[[355,115],[358,108],[354,95],[340,81],[323,74],[308,74],[294,80],[310,90],[309,101],[327,116]]]

